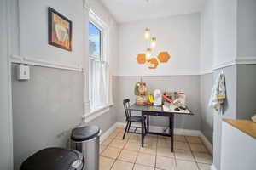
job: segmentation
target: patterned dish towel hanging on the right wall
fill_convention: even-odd
[[[224,71],[218,74],[218,77],[213,85],[212,94],[209,101],[209,106],[218,113],[223,112],[223,104],[226,99],[226,86]]]

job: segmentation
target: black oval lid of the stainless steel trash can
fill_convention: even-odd
[[[95,138],[100,133],[100,128],[96,126],[84,126],[74,128],[71,139],[75,142],[83,142]]]

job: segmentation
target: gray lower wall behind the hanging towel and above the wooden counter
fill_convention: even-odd
[[[256,114],[256,65],[232,65],[225,67],[227,99],[224,103],[224,115],[214,113],[213,163],[220,169],[220,150],[222,136],[222,119],[250,119]],[[214,72],[214,77],[218,76]]]

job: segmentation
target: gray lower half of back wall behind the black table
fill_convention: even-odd
[[[136,96],[133,94],[135,83],[140,81],[141,77],[114,77],[114,82],[118,84],[113,89],[114,103],[116,105],[116,115],[118,122],[125,122],[125,112],[122,101],[125,98],[135,102]],[[184,129],[201,129],[200,114],[200,76],[159,76],[143,77],[143,82],[147,82],[148,91],[153,92],[159,88],[162,92],[183,91],[187,96],[189,108],[195,116],[175,116],[175,127]],[[151,125],[168,126],[168,119],[165,117],[152,117]]]

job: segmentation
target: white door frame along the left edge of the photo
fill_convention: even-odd
[[[13,170],[9,7],[9,0],[0,1],[0,169]]]

